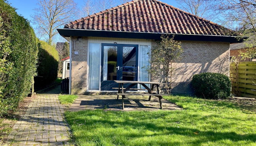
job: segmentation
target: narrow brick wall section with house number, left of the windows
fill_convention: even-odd
[[[75,42],[74,42],[75,41]],[[84,94],[87,89],[87,37],[72,39],[71,94]],[[74,54],[78,52],[78,54]]]

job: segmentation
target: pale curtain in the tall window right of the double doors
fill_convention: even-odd
[[[146,68],[149,66],[149,55],[147,54],[150,51],[150,45],[140,45],[139,47],[139,81],[150,81],[149,73],[146,71]],[[141,85],[140,85],[141,86]],[[144,87],[140,87],[144,89]]]

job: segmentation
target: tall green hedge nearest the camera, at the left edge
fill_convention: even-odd
[[[38,42],[29,21],[0,0],[0,117],[30,93]]]

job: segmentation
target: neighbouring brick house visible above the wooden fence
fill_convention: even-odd
[[[240,52],[245,52],[246,51],[246,46],[245,46],[245,43],[233,43],[233,44],[230,44],[230,57],[229,59],[231,60],[232,57],[234,56],[239,56],[240,55]],[[241,59],[241,57],[240,57]],[[256,58],[245,58],[245,59],[241,59],[240,61],[256,61]]]

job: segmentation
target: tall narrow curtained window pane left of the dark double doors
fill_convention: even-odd
[[[89,90],[99,90],[100,50],[100,43],[89,43]]]

